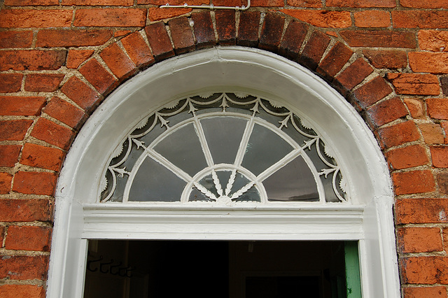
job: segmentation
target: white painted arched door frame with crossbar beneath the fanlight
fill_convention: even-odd
[[[351,204],[176,208],[97,204],[113,149],[144,116],[203,91],[248,90],[307,118],[337,155]],[[270,52],[217,47],[155,64],[113,92],[87,120],[59,176],[49,298],[80,298],[86,239],[358,240],[363,297],[400,297],[388,167],[344,98]]]

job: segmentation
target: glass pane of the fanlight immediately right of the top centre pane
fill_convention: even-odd
[[[287,155],[293,147],[272,130],[255,125],[241,166],[256,176]]]

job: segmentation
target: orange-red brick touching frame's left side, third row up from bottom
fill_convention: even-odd
[[[52,229],[49,227],[10,226],[5,248],[11,250],[50,251]]]

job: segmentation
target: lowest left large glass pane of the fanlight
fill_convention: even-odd
[[[186,182],[146,157],[132,181],[129,201],[180,201]]]

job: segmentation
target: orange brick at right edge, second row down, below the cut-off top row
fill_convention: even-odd
[[[391,14],[395,28],[448,28],[446,10],[393,10]]]

